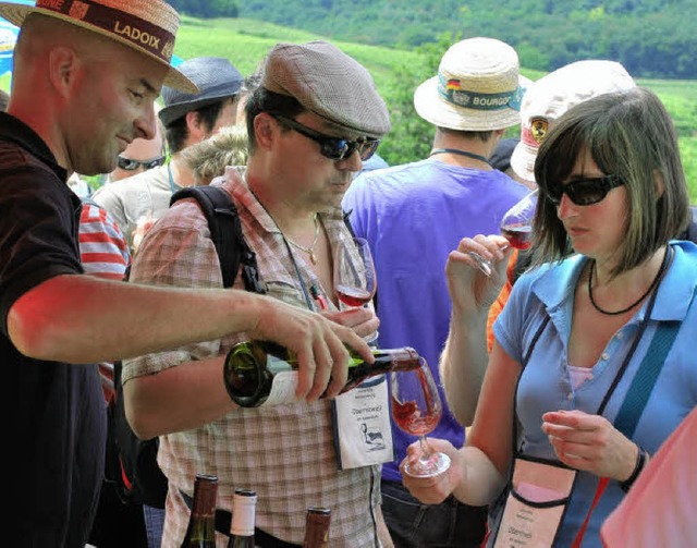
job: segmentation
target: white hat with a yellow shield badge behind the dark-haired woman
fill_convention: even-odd
[[[521,141],[511,156],[511,168],[526,181],[535,181],[535,158],[551,123],[574,105],[598,95],[636,87],[620,63],[576,61],[535,82],[521,107]]]

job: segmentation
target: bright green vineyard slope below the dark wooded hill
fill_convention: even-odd
[[[198,56],[229,58],[243,74],[255,71],[266,52],[278,41],[307,41],[317,35],[270,23],[244,19],[198,20],[184,16],[175,53],[184,59]],[[427,155],[432,129],[414,112],[414,89],[436,74],[441,54],[451,39],[412,50],[366,46],[332,40],[363,63],[372,74],[391,112],[392,132],[380,145],[380,155],[391,165],[403,163]],[[523,69],[536,80],[543,72]],[[697,203],[697,81],[638,80],[653,89],[675,120],[681,136],[681,151],[693,202]],[[8,87],[8,77],[0,77]],[[516,131],[511,131],[514,136]]]

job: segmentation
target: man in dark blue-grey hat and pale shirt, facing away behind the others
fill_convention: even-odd
[[[137,243],[144,228],[162,217],[172,194],[195,183],[180,153],[236,122],[236,103],[244,78],[228,59],[197,57],[184,61],[178,70],[194,82],[199,92],[162,88],[164,107],[158,115],[171,154],[169,163],[119,184],[106,184],[93,196],[95,203],[111,214],[134,252],[134,240]]]

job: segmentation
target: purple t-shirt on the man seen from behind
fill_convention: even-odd
[[[504,173],[436,159],[364,173],[343,200],[356,235],[370,242],[378,277],[381,348],[413,346],[429,363],[443,400],[443,418],[431,434],[464,442],[450,413],[438,360],[448,337],[451,301],[445,263],[460,240],[498,234],[501,217],[529,191]],[[398,460],[382,477],[401,482],[399,463],[415,441],[393,423]]]

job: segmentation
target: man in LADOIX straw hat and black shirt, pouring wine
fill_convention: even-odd
[[[343,342],[371,354],[351,329],[265,296],[84,276],[81,204],[65,181],[111,171],[129,143],[151,137],[163,83],[196,92],[169,64],[179,17],[161,0],[3,2],[0,15],[22,27],[0,113],[0,362],[12,410],[3,543],[82,548],[106,435],[97,368],[84,364],[246,331],[297,352],[298,393],[314,401],[330,376],[331,394],[345,382]],[[219,386],[206,397],[224,395],[221,361],[209,366]]]

